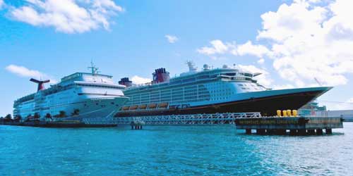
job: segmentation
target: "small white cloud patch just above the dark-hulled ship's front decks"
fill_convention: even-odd
[[[239,70],[242,70],[244,72],[262,73],[261,75],[256,76],[255,79],[258,80],[259,84],[262,84],[265,87],[270,87],[270,85],[273,83],[273,80],[268,78],[269,73],[266,70],[257,68],[254,65],[237,65],[237,68],[239,68]]]

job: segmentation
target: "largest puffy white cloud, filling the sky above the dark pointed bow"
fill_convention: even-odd
[[[295,87],[313,84],[315,78],[324,85],[347,84],[347,75],[353,73],[353,1],[318,2],[294,0],[261,15],[256,44],[229,46],[219,41],[220,49],[213,44],[199,53],[250,54],[261,58],[259,63],[269,59],[280,77]]]

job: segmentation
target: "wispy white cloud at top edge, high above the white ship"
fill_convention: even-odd
[[[112,0],[25,1],[25,6],[9,8],[14,20],[34,26],[54,27],[64,33],[83,33],[100,27],[109,30],[110,18],[124,11]]]

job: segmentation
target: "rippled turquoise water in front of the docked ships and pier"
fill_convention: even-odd
[[[0,125],[0,175],[352,175],[353,123],[331,136],[234,126],[53,129]]]

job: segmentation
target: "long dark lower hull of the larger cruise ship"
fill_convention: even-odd
[[[305,90],[294,93],[280,93],[270,96],[251,97],[224,103],[210,103],[203,106],[191,106],[181,109],[159,109],[148,111],[120,111],[116,117],[149,116],[149,115],[183,115],[198,113],[246,113],[260,112],[262,115],[275,115],[277,110],[297,110],[327,92],[326,89]],[[273,91],[276,92],[276,91]],[[280,92],[280,91],[279,91]]]

